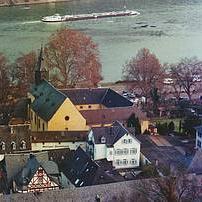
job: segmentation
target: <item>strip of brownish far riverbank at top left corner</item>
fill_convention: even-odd
[[[59,3],[72,0],[0,0],[0,7],[29,6],[33,4]]]

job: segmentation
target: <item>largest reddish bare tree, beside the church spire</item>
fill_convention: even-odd
[[[97,86],[102,79],[97,46],[79,31],[62,29],[53,34],[44,62],[57,87]]]

